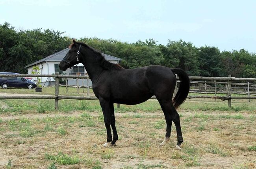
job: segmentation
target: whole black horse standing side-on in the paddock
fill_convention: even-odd
[[[189,77],[182,69],[170,69],[160,65],[124,69],[119,64],[105,60],[100,52],[73,39],[73,44],[70,45],[69,52],[60,62],[59,68],[65,71],[78,63],[84,65],[93,82],[93,92],[100,100],[108,135],[105,147],[115,145],[118,140],[113,104],[140,104],[154,95],[161,105],[166,120],[166,134],[160,146],[170,140],[171,126],[174,122],[178,140],[176,148],[181,149],[183,138],[180,116],[176,108],[186,100],[189,93]],[[181,83],[172,100],[176,85],[174,73],[178,74]],[[113,139],[110,125],[113,129]]]

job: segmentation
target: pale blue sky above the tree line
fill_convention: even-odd
[[[184,40],[256,53],[256,0],[0,0],[0,24],[71,38]]]

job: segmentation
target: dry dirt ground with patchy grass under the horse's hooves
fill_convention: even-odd
[[[181,151],[174,148],[175,125],[171,141],[159,147],[165,135],[165,121],[161,111],[116,113],[119,140],[116,147],[110,148],[102,146],[106,141],[106,130],[104,122],[98,120],[100,112],[0,114],[0,168],[7,168],[8,161],[12,159],[11,168],[14,169],[45,169],[54,162],[47,159],[45,154],[56,155],[59,151],[78,156],[80,162],[73,165],[56,163],[58,169],[256,167],[256,152],[249,149],[256,145],[255,111],[178,112],[181,114],[184,136]],[[91,115],[95,124],[89,125],[88,120],[81,118],[83,114]],[[48,124],[52,130],[24,136],[21,133],[23,130],[17,128],[28,123],[36,131],[42,131]],[[59,134],[59,126],[63,126],[67,134]]]

